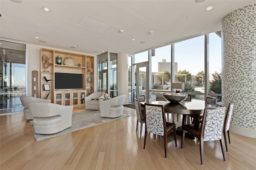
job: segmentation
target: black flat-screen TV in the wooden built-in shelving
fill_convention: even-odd
[[[82,89],[82,74],[55,72],[55,89]]]

